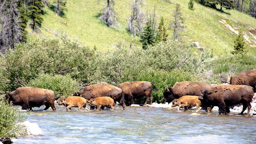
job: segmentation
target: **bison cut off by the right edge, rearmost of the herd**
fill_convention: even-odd
[[[231,85],[247,85],[251,86],[256,92],[256,70],[240,72],[237,75],[231,76]]]

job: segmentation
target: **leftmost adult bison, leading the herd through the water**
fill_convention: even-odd
[[[32,111],[33,107],[42,105],[45,105],[44,110],[51,107],[55,111],[54,101],[58,99],[51,90],[32,87],[17,88],[14,92],[7,93],[5,97],[9,102],[12,101],[14,105],[21,106],[22,110],[29,109],[30,111]]]

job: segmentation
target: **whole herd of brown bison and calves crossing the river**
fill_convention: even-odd
[[[228,114],[229,107],[242,104],[243,114],[248,108],[250,112],[251,104],[256,86],[256,70],[244,71],[230,78],[230,84],[210,86],[208,84],[192,81],[176,82],[173,87],[167,87],[163,91],[165,102],[172,102],[172,106],[187,108],[196,106],[197,112],[200,106],[210,112],[214,106],[219,107],[219,114]],[[125,82],[118,84],[117,87],[110,84],[94,84],[86,86],[83,91],[75,92],[73,96],[60,98],[59,105],[66,106],[67,111],[72,107],[78,107],[80,111],[86,108],[89,103],[92,107],[99,110],[102,106],[114,109],[118,102],[125,110],[126,106],[132,105],[135,98],[145,96],[144,105],[150,100],[152,105],[152,88],[158,91],[157,87],[147,81]],[[32,110],[33,107],[45,105],[47,110],[50,107],[56,110],[54,101],[59,97],[51,90],[21,87],[11,93],[6,93],[5,98],[14,105],[20,105],[22,110]]]

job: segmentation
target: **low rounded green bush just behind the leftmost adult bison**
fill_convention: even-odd
[[[79,90],[79,85],[76,80],[70,75],[51,75],[40,74],[33,79],[29,84],[31,87],[49,89],[55,92],[57,96],[70,96]]]

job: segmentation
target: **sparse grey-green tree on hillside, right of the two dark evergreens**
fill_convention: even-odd
[[[173,38],[176,40],[180,40],[180,31],[184,29],[184,26],[181,25],[184,23],[184,19],[182,18],[180,7],[180,4],[176,4],[176,8],[173,13],[173,20],[171,20],[169,24],[169,29],[173,28]]]

